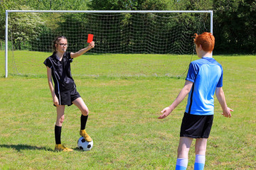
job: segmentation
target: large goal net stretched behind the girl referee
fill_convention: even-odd
[[[212,31],[211,11],[9,11],[8,74],[46,76],[43,61],[58,35],[79,77],[181,77],[193,60],[193,34]],[[7,58],[6,57],[6,58]],[[196,58],[196,57],[195,57]]]

